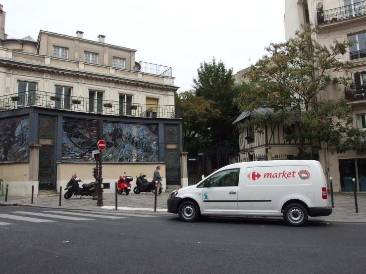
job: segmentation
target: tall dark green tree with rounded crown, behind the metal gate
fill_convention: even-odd
[[[212,107],[220,111],[219,117],[208,120],[211,145],[231,139],[234,129],[232,122],[239,112],[232,103],[237,91],[234,89],[233,69],[226,69],[222,61],[216,63],[215,58],[212,58],[212,63],[201,63],[197,73],[192,85],[196,96],[213,101]]]

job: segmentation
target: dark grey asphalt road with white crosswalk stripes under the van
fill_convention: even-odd
[[[1,274],[366,273],[366,224],[60,211],[0,207]]]

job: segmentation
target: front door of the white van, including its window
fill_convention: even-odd
[[[238,212],[239,172],[240,169],[228,169],[206,178],[202,192],[204,212]]]

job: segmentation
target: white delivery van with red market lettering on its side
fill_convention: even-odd
[[[168,212],[186,222],[207,216],[281,217],[301,227],[308,215],[328,216],[327,183],[318,161],[237,163],[215,171],[196,185],[170,193]]]

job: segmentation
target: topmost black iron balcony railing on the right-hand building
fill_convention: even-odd
[[[351,5],[322,10],[322,5],[317,6],[317,22],[325,24],[366,14],[366,0]]]

